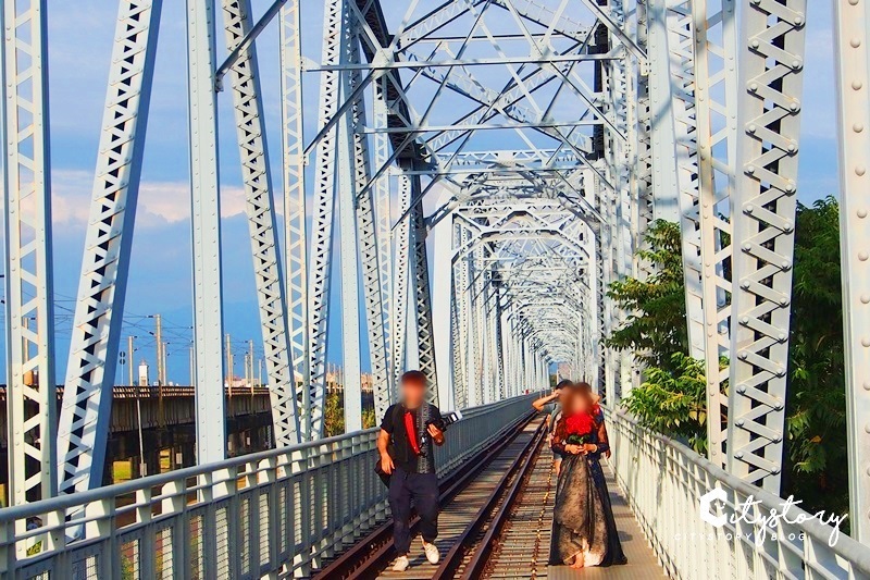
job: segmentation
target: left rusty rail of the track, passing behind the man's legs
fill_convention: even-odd
[[[443,507],[450,503],[462,490],[464,490],[474,479],[495,459],[508,445],[510,445],[523,429],[535,418],[537,414],[530,412],[517,424],[509,437],[504,439],[493,447],[481,451],[471,457],[465,464],[471,469],[464,470],[462,467],[455,469],[444,481],[439,483],[440,495],[438,503]],[[534,439],[533,439],[534,441]],[[525,455],[525,451],[520,457]],[[411,518],[411,533],[415,533],[420,518],[414,515]],[[376,527],[369,535],[353,544],[350,548],[339,555],[326,567],[315,572],[314,579],[352,579],[364,580],[375,578],[377,572],[384,569],[393,556],[393,540],[390,538],[393,522],[390,520]]]

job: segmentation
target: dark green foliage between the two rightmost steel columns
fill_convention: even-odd
[[[796,224],[783,493],[843,514],[848,461],[836,199],[799,205]]]

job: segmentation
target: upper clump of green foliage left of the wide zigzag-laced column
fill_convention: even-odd
[[[649,367],[674,371],[673,355],[688,353],[680,244],[679,224],[658,220],[650,225],[646,233],[648,249],[637,255],[651,262],[656,273],[646,280],[627,277],[610,285],[608,296],[630,314],[625,324],[605,341],[611,348],[632,350]]]

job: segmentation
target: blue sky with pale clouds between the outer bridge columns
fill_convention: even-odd
[[[84,226],[87,221],[96,163],[105,82],[116,17],[112,0],[50,0],[49,71],[52,141],[52,201],[54,211],[55,294],[58,296],[58,369],[65,367],[72,316],[77,292]],[[268,2],[254,0],[260,14]],[[319,58],[321,13],[318,2],[303,2],[307,55]],[[835,90],[830,2],[811,2],[806,58],[799,196],[805,202],[837,194]],[[221,38],[222,40],[222,38]],[[268,135],[273,168],[279,161],[277,30],[271,26],[259,40],[260,66]],[[134,236],[125,320],[126,333],[142,336],[142,356],[153,361],[153,341],[146,337],[160,312],[167,325],[171,381],[187,380],[187,343],[190,325],[189,194],[187,186],[186,88],[184,2],[164,2],[152,95],[151,118]],[[308,134],[316,119],[316,75],[309,74],[306,89]],[[259,321],[244,193],[229,107],[221,101],[222,203],[224,214],[224,297],[226,330],[239,343],[259,345]],[[279,186],[279,173],[275,173]],[[337,291],[337,284],[334,285]],[[334,292],[335,294],[335,292]],[[337,321],[337,317],[333,317]],[[337,324],[335,324],[337,326]],[[334,328],[330,358],[337,361],[340,328]],[[364,332],[364,329],[363,329]],[[365,341],[362,342],[365,344]],[[258,347],[259,348],[259,347]],[[368,363],[363,355],[363,365]],[[238,362],[237,371],[241,366]]]

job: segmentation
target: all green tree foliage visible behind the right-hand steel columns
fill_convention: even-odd
[[[838,213],[832,197],[797,209],[782,491],[810,510],[843,514],[848,461]],[[611,285],[609,296],[633,313],[606,344],[634,350],[646,365],[643,384],[623,405],[643,424],[704,453],[705,373],[687,355],[680,227],[656,222],[646,242],[642,258],[657,273]]]

